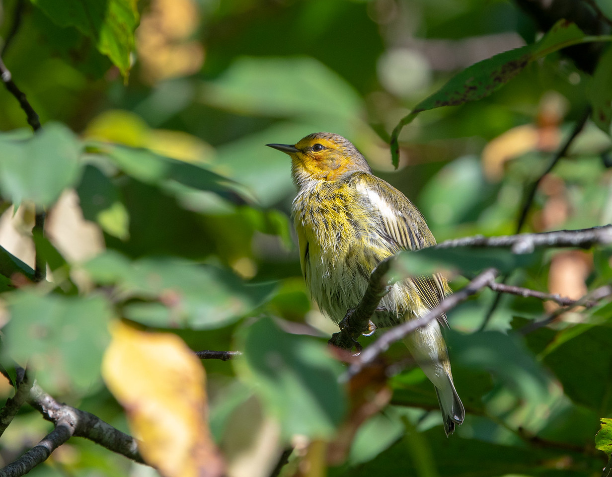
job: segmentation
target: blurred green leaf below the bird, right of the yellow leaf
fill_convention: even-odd
[[[345,396],[338,384],[341,366],[325,344],[261,318],[245,329],[240,348],[244,359],[236,360],[237,372],[255,386],[285,437],[333,435],[345,412]]]

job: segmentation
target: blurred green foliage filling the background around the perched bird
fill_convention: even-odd
[[[338,384],[343,367],[326,347],[335,325],[310,304],[300,275],[290,163],[264,145],[340,133],[419,206],[439,241],[502,235],[515,231],[529,186],[592,105],[592,121],[542,181],[525,230],[605,225],[612,222],[610,48],[592,78],[555,51],[513,70],[503,88],[485,81],[483,99],[420,113],[398,137],[394,171],[390,132],[412,108],[455,73],[469,80],[466,68],[478,61],[548,45],[534,43],[534,22],[513,2],[7,0],[2,7],[0,37],[10,38],[2,59],[43,124],[28,132],[18,102],[0,89],[4,367],[27,363],[56,399],[127,431],[100,379],[108,325],[125,318],[176,333],[195,350],[244,351],[234,366],[204,362],[212,434],[230,464],[247,455],[266,462],[258,468],[274,467],[293,443],[298,451],[283,475],[303,471],[306,461],[324,471],[324,458],[312,457],[315,444],[349,435],[329,475],[600,475],[606,457],[594,438],[600,418],[612,414],[605,302],[523,335],[523,326],[553,310],[550,302],[504,296],[480,330],[493,300],[482,291],[448,314],[453,375],[468,414],[455,435],[444,437],[434,389],[412,366],[386,381],[389,404],[361,423],[357,393]],[[499,57],[493,63],[498,68]],[[51,274],[35,284],[30,230],[43,207],[47,234],[35,242]],[[461,273],[495,266],[514,285],[579,298],[610,283],[610,257],[609,247],[520,256],[427,250],[402,256],[396,272],[442,264],[458,272],[457,289],[466,283]],[[403,358],[401,347],[386,357]],[[0,392],[10,396],[8,386]],[[24,409],[2,437],[4,464],[44,434],[35,418]],[[606,436],[598,449],[609,449]],[[144,475],[91,443],[64,447],[32,475]]]

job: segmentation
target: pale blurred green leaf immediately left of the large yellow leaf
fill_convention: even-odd
[[[48,392],[85,392],[99,385],[112,316],[106,299],[26,290],[12,293],[8,302],[3,353],[34,369]]]

